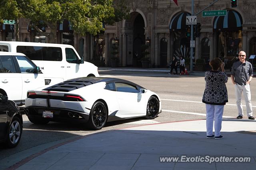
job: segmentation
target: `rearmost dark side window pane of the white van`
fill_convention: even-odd
[[[42,47],[37,46],[17,46],[17,53],[23,53],[30,60],[39,60],[42,61]]]

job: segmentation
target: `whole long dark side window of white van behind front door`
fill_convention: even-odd
[[[17,46],[17,53],[23,53],[31,60],[62,61],[60,47]]]

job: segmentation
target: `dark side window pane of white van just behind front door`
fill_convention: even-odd
[[[60,47],[42,47],[43,61],[62,61]]]

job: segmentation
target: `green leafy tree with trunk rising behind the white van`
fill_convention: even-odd
[[[128,16],[125,0],[2,0],[0,19],[5,17],[31,20],[31,25],[49,43],[57,42],[57,25],[64,19],[69,20],[72,28],[80,35],[96,35],[104,30],[103,23],[113,24]],[[50,28],[50,34],[43,32],[41,26]]]

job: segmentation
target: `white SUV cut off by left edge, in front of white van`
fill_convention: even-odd
[[[0,95],[22,106],[28,90],[43,86],[44,74],[26,55],[0,52]]]

